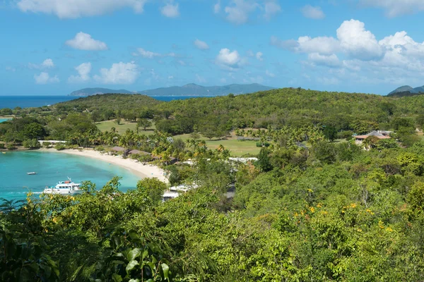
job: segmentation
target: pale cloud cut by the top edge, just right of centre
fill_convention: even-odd
[[[224,8],[225,18],[236,25],[247,23],[255,12],[269,20],[280,11],[281,6],[275,0],[230,0]]]

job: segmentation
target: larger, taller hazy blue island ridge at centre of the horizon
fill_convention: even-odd
[[[148,96],[223,96],[232,94],[247,94],[259,91],[272,90],[273,87],[260,85],[257,83],[240,85],[232,84],[225,86],[201,86],[194,83],[184,86],[162,87],[153,90],[143,90],[140,94]]]

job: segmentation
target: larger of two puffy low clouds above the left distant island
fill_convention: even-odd
[[[134,62],[113,63],[111,68],[101,68],[100,75],[94,79],[105,84],[131,84],[139,76],[139,69]]]

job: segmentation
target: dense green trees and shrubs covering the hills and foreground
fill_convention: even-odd
[[[424,97],[285,89],[147,107],[121,97],[105,98],[114,118],[134,111],[141,128],[153,121],[158,131],[102,132],[93,113],[107,105],[90,97],[13,109],[0,138],[141,149],[160,157],[172,185],[198,188],[162,202],[164,183],[122,193],[114,178],[100,189],[84,183],[76,197],[4,202],[2,281],[424,280]],[[396,132],[351,140],[372,129]],[[228,149],[199,141],[230,131],[258,143],[258,161],[229,161]]]

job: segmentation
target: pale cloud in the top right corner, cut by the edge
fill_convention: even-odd
[[[390,18],[424,11],[423,0],[360,0],[365,6],[384,8]]]

